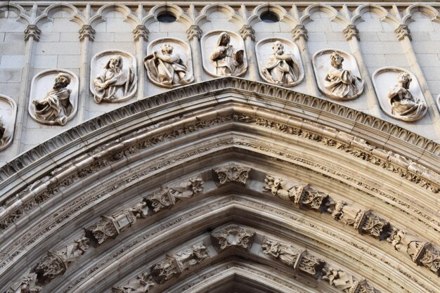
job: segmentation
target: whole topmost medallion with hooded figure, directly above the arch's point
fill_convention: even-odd
[[[214,77],[240,77],[247,71],[245,43],[235,32],[214,30],[203,35],[203,68]]]

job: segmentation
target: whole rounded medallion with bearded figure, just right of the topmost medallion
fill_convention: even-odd
[[[279,86],[295,86],[304,79],[301,54],[287,39],[262,39],[255,45],[260,76]]]

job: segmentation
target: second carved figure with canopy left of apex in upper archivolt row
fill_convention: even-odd
[[[136,219],[145,218],[147,215],[147,203],[140,202],[134,207],[119,211],[112,216],[103,216],[97,223],[86,228],[86,235],[91,237],[97,245],[101,245],[109,238],[115,238],[123,230],[132,226]]]

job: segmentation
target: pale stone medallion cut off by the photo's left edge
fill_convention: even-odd
[[[0,150],[11,145],[15,129],[17,104],[12,98],[0,95]]]

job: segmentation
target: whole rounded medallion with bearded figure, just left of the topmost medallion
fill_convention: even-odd
[[[193,82],[191,49],[186,42],[156,39],[148,44],[147,52],[144,63],[153,84],[171,89]]]

